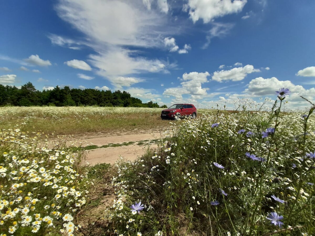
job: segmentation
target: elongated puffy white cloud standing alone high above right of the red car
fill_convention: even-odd
[[[252,65],[245,65],[244,67],[233,68],[231,70],[215,71],[213,73],[212,80],[218,82],[226,80],[240,81],[253,72],[260,72],[260,70],[254,69],[254,66]]]

